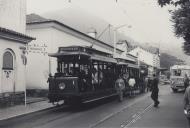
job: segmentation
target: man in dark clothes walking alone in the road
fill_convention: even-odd
[[[151,85],[151,98],[154,101],[154,107],[158,107],[158,104],[160,103],[158,101],[158,92],[159,92],[159,88],[158,88],[158,78],[156,77],[155,74],[153,74],[153,80],[152,80],[152,85]]]

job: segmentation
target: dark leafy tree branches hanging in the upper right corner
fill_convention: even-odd
[[[158,0],[161,7],[174,5],[171,12],[171,21],[174,23],[174,32],[177,37],[184,39],[183,50],[190,55],[190,0]]]

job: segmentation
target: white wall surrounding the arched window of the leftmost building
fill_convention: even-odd
[[[21,54],[22,51],[20,47],[23,47],[24,44],[0,39],[0,93],[12,92],[12,89],[9,90],[7,85],[3,85],[3,54],[6,49],[11,49],[15,55],[15,66],[14,66],[14,83],[15,83],[15,92],[25,91],[25,65],[23,64]],[[5,91],[6,90],[6,91]]]

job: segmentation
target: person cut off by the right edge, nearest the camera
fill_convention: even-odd
[[[188,125],[190,128],[190,86],[186,88],[184,94],[184,114],[187,117]]]

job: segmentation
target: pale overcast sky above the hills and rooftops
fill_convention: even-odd
[[[76,6],[118,27],[140,43],[148,43],[172,53],[181,59],[182,39],[174,36],[168,9],[161,8],[156,0],[27,0],[27,13],[44,14]],[[130,26],[130,27],[129,27]]]

